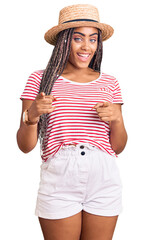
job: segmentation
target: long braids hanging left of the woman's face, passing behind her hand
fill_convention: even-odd
[[[62,74],[63,70],[65,69],[70,54],[70,46],[73,31],[74,28],[69,28],[64,31],[61,31],[58,34],[56,45],[53,49],[48,65],[43,73],[39,93],[44,92],[46,95],[50,95],[54,82],[56,81],[56,79],[58,79],[58,77]],[[44,148],[45,148],[44,137],[48,125],[47,120],[48,114],[41,115],[38,125],[41,147]]]

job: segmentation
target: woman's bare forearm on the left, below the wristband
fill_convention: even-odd
[[[37,124],[27,126],[22,123],[17,132],[17,143],[20,150],[24,153],[30,152],[36,146],[37,140]]]

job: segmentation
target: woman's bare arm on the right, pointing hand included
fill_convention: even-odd
[[[112,149],[116,154],[121,153],[127,142],[127,133],[123,122],[121,104],[104,102],[96,104],[93,108],[96,109],[102,121],[109,122]]]

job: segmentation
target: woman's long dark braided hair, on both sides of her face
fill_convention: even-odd
[[[74,28],[69,28],[59,32],[57,36],[56,45],[53,49],[51,58],[44,70],[41,84],[40,92],[44,92],[46,95],[50,95],[54,82],[64,71],[71,49],[71,41],[73,36]],[[102,35],[101,30],[98,29],[98,45],[97,50],[89,64],[89,68],[100,72],[101,61],[102,61]],[[42,150],[46,147],[46,129],[48,125],[48,114],[43,114],[40,116],[38,123],[38,134],[41,143]]]

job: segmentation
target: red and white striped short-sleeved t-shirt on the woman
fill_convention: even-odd
[[[20,99],[34,100],[39,92],[43,70],[33,72]],[[79,83],[60,76],[51,95],[56,109],[48,114],[46,149],[42,160],[54,156],[63,145],[90,143],[102,151],[116,156],[109,141],[108,122],[100,120],[92,107],[98,102],[123,103],[117,79],[105,73],[88,83]]]

